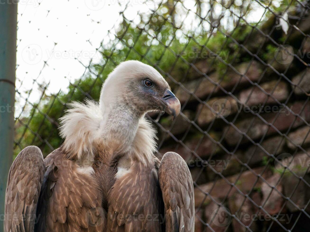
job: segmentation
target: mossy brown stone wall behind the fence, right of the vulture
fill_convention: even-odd
[[[310,52],[310,24],[289,19],[296,26],[285,35],[277,20],[272,15],[260,27],[270,37],[253,28],[240,41],[250,59],[233,68],[220,73],[211,59],[196,61],[174,90],[182,114],[158,123],[158,157],[175,151],[191,170],[197,232],[308,230],[310,70],[300,54]],[[266,58],[275,43],[298,58],[279,58],[281,46]]]

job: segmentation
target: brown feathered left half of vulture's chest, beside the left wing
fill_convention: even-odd
[[[92,174],[78,171],[60,149],[46,158],[35,231],[104,231],[102,192]]]

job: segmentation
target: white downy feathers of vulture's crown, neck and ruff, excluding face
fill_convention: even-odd
[[[69,104],[67,114],[60,118],[60,135],[65,139],[62,149],[70,158],[93,160],[100,153],[98,147],[119,140],[124,143],[119,148],[123,152],[130,153],[142,163],[150,162],[157,147],[154,128],[144,114],[141,117],[130,110],[127,112],[127,105],[120,103],[128,91],[122,86],[124,80],[130,82],[138,75],[151,75],[162,81],[162,76],[153,67],[127,61],[117,66],[104,82],[99,104],[91,100]]]

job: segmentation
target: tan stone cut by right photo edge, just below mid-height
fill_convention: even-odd
[[[310,144],[310,127],[305,126],[299,128],[297,131],[291,132],[288,137],[293,141],[296,145],[303,145],[303,147]],[[287,146],[291,149],[295,149],[296,146],[287,140]]]

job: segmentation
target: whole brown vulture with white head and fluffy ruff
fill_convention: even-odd
[[[184,159],[157,152],[145,114],[177,117],[180,102],[153,67],[120,63],[98,102],[72,102],[63,144],[45,159],[36,146],[13,162],[4,231],[194,231],[193,180]]]

